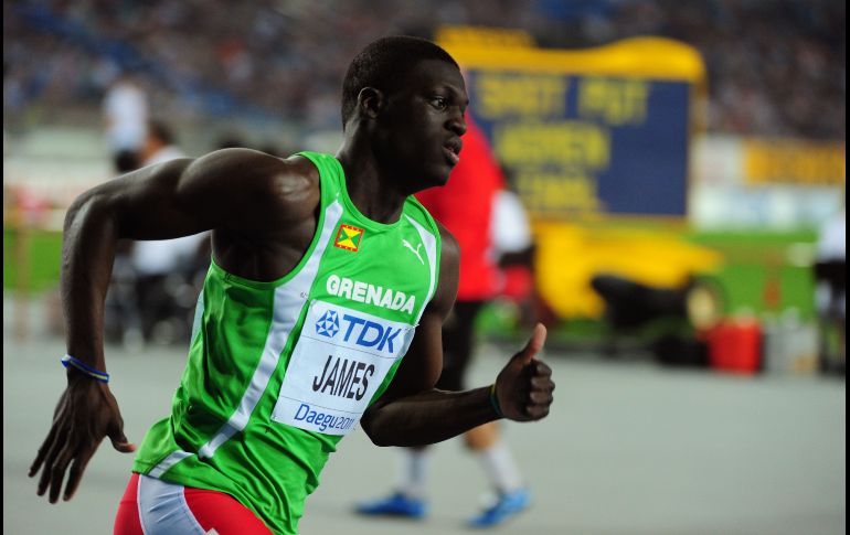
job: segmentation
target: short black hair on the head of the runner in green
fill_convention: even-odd
[[[413,67],[426,60],[444,61],[458,66],[448,52],[425,39],[394,35],[366,45],[351,61],[342,82],[342,128],[346,128],[354,113],[358,95],[363,87],[392,92]]]

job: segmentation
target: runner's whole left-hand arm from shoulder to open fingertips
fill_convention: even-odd
[[[104,299],[118,239],[173,238],[214,228],[251,232],[262,240],[263,235],[291,227],[312,214],[318,188],[306,171],[311,168],[299,160],[285,161],[245,149],[222,150],[196,160],[151,165],[77,197],[65,217],[62,252],[68,354],[106,371]],[[68,466],[65,500],[73,495],[104,437],[119,451],[135,449],[124,436],[120,411],[108,386],[71,366],[67,376],[53,426],[30,469],[32,477],[43,466],[38,492],[42,495],[50,486],[52,503],[59,499]]]

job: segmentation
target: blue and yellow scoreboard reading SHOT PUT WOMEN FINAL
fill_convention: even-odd
[[[688,139],[705,86],[693,47],[638,38],[538,49],[499,32],[438,35],[464,69],[470,117],[532,218],[686,215]]]

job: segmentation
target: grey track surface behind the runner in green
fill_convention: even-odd
[[[77,495],[50,505],[26,470],[63,388],[62,340],[11,335],[3,300],[3,533],[108,534],[131,464],[106,445]],[[38,314],[38,308],[31,311]],[[35,327],[38,317],[31,325]],[[507,354],[482,346],[474,378],[486,384]],[[163,417],[184,354],[108,351],[126,432],[140,441]],[[557,389],[539,424],[506,424],[534,493],[532,509],[497,533],[523,535],[843,534],[847,525],[846,383],[804,376],[742,378],[592,355],[548,353]],[[387,492],[397,454],[357,430],[331,457],[307,503],[302,535],[469,534],[464,520],[486,490],[460,441],[432,463],[431,514],[422,522],[354,516],[358,500]]]

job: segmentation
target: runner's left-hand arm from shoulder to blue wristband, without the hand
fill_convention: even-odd
[[[119,238],[285,227],[312,210],[304,193],[294,194],[299,185],[309,188],[293,168],[261,152],[229,149],[151,165],[77,197],[65,217],[62,253],[68,353],[105,370],[103,303]]]

